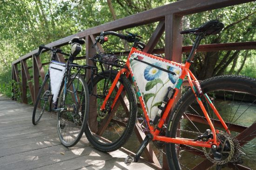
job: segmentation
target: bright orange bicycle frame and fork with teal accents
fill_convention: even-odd
[[[121,74],[125,73],[126,77],[128,78],[130,75],[133,76],[131,70],[129,69],[130,68],[130,62],[129,62],[129,59],[130,59],[130,56],[133,52],[138,52],[138,53],[141,53],[141,54],[147,54],[145,52],[141,52],[139,50],[137,50],[135,47],[132,47],[130,53],[129,53],[129,56],[128,56],[128,59],[127,59],[127,62],[126,62],[126,65],[128,66],[128,69],[126,68],[122,68],[121,71],[118,72],[118,74],[116,75],[110,89],[109,89],[109,92],[108,92],[108,95],[106,96],[103,104],[101,105],[101,111],[103,111],[105,109],[105,105],[108,101],[108,98],[110,97],[111,93],[113,92],[117,82],[118,82],[118,79],[120,78]],[[195,54],[195,51],[193,52],[192,55]],[[147,54],[148,55],[148,54]],[[165,62],[171,62],[167,59],[162,59],[162,58],[159,58],[159,57],[156,57],[156,56],[153,56],[153,55],[150,55],[150,57],[152,58],[155,58],[155,59],[159,59],[159,60],[162,60],[162,61],[165,61]],[[201,147],[207,147],[207,148],[211,148],[212,144],[216,144],[216,145],[219,145],[220,143],[217,142],[217,139],[216,139],[216,133],[218,133],[218,130],[216,130],[214,128],[214,125],[211,121],[211,119],[209,118],[209,115],[208,115],[208,112],[206,111],[204,105],[202,104],[202,100],[199,96],[196,95],[196,87],[195,85],[193,84],[193,81],[194,82],[197,82],[198,83],[198,80],[195,78],[195,76],[192,74],[192,72],[189,70],[189,66],[191,65],[191,62],[189,62],[189,60],[186,61],[185,64],[181,64],[181,68],[182,68],[182,74],[181,76],[179,77],[178,79],[178,83],[177,85],[175,86],[175,93],[174,93],[174,96],[173,98],[171,98],[167,105],[166,105],[166,108],[162,114],[162,117],[160,118],[160,121],[159,123],[157,124],[157,127],[155,128],[154,125],[151,125],[150,124],[150,120],[149,120],[149,117],[148,117],[148,114],[147,114],[147,111],[144,107],[144,102],[142,100],[142,97],[141,97],[141,94],[138,90],[138,87],[136,85],[136,82],[135,80],[133,79],[133,82],[134,82],[134,85],[135,85],[135,89],[137,91],[137,94],[138,94],[138,98],[139,98],[139,101],[141,103],[141,108],[142,108],[142,111],[144,113],[144,116],[146,118],[146,121],[147,121],[147,124],[148,124],[148,128],[149,128],[149,131],[150,133],[153,135],[153,140],[158,140],[158,141],[163,141],[163,142],[167,142],[167,143],[175,143],[175,144],[187,144],[187,145],[192,145],[192,146],[201,146]],[[184,78],[187,76],[187,79],[189,81],[189,86],[191,87],[192,91],[194,92],[195,94],[195,98],[196,98],[196,101],[198,102],[198,104],[200,105],[202,111],[203,111],[203,114],[211,128],[211,131],[213,133],[213,139],[207,141],[207,142],[203,142],[203,141],[193,141],[194,139],[187,139],[187,138],[180,138],[180,137],[176,137],[176,138],[171,138],[171,137],[164,137],[164,136],[159,136],[159,133],[160,133],[160,130],[163,126],[163,124],[165,123],[166,121],[166,118],[168,117],[168,114],[174,104],[174,101],[175,101],[175,98],[176,96],[178,95],[179,93],[179,90],[181,89],[181,86],[182,86],[182,82],[184,80]],[[121,92],[123,90],[123,85],[121,85],[118,89],[118,92],[116,93],[116,96],[115,96],[115,99],[114,99],[114,102],[113,104],[111,105],[111,109],[114,108],[115,106],[115,103],[116,101],[118,100],[118,98],[120,97],[121,95]],[[208,97],[207,94],[203,94],[202,97],[204,97],[206,99],[206,101],[209,103],[211,109],[213,110],[214,114],[216,114],[217,118],[220,120],[223,128],[226,130],[227,133],[230,133],[229,130],[228,130],[228,126],[226,125],[226,123],[223,121],[222,117],[220,116],[219,112],[217,111],[217,109],[215,108],[215,106],[213,105],[213,103],[211,102],[210,98]],[[174,117],[175,115],[173,115]],[[172,117],[172,118],[173,118]],[[170,128],[170,127],[168,127]]]

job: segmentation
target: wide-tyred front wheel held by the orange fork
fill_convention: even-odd
[[[93,80],[94,92],[92,98],[96,104],[90,107],[90,118],[85,134],[89,142],[98,150],[109,152],[119,149],[131,136],[137,116],[135,91],[125,76],[118,80],[117,87],[112,92],[106,104],[105,111],[100,107],[108,94],[108,90],[117,72],[102,72]],[[110,79],[109,79],[110,76]],[[124,86],[120,99],[113,110],[110,109],[120,85]]]

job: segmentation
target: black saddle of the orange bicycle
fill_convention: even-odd
[[[181,31],[181,34],[205,33],[205,35],[214,35],[214,34],[221,32],[223,27],[224,27],[224,24],[222,22],[220,22],[219,20],[210,20],[209,22],[206,22],[205,24],[203,24],[202,26],[200,26],[198,28]]]

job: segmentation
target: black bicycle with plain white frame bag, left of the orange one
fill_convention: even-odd
[[[81,52],[84,39],[75,37],[70,54],[58,48],[39,46],[37,56],[43,49],[52,51],[51,62],[40,87],[33,111],[32,122],[38,124],[44,111],[57,112],[57,131],[61,143],[72,147],[80,140],[87,124],[89,112],[89,92],[84,75],[87,69],[97,70],[94,66],[73,63]],[[68,56],[67,63],[56,61],[58,53]]]

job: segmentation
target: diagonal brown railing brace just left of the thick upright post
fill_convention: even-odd
[[[155,28],[154,33],[152,34],[151,38],[148,40],[147,45],[145,46],[145,48],[143,49],[143,52],[147,52],[147,53],[151,53],[156,44],[158,43],[159,39],[161,38],[163,32],[164,32],[164,26],[165,26],[165,21],[162,20],[159,22],[159,24],[157,25],[157,27]]]

